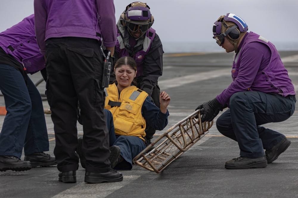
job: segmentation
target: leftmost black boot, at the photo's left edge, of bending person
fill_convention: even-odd
[[[30,169],[30,161],[21,161],[15,156],[0,156],[0,171],[25,171]]]

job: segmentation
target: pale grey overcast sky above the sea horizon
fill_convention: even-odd
[[[131,2],[114,0],[116,20]],[[240,16],[249,31],[273,43],[297,42],[297,0],[148,0],[146,3],[155,19],[152,28],[162,42],[214,42],[212,25],[226,13]],[[0,32],[33,12],[33,0],[0,0]]]

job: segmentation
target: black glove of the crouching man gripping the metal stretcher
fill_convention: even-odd
[[[208,102],[204,102],[199,105],[195,110],[201,109],[201,121],[211,122],[219,113],[219,111],[223,107],[216,98],[209,100]]]

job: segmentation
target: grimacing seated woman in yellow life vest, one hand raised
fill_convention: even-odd
[[[132,159],[145,149],[146,121],[156,130],[164,129],[168,123],[170,96],[162,91],[160,109],[156,107],[148,94],[135,86],[136,70],[133,58],[119,58],[114,66],[115,83],[106,88],[105,109],[110,112],[105,111],[105,114],[110,147],[120,148],[120,155],[118,149],[110,149],[111,168],[116,170],[131,170]],[[119,157],[113,159],[113,156]]]

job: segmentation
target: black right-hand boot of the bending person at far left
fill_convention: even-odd
[[[51,157],[49,154],[44,152],[25,155],[24,161],[30,161],[32,168],[38,166],[53,166],[58,164],[55,157]]]

